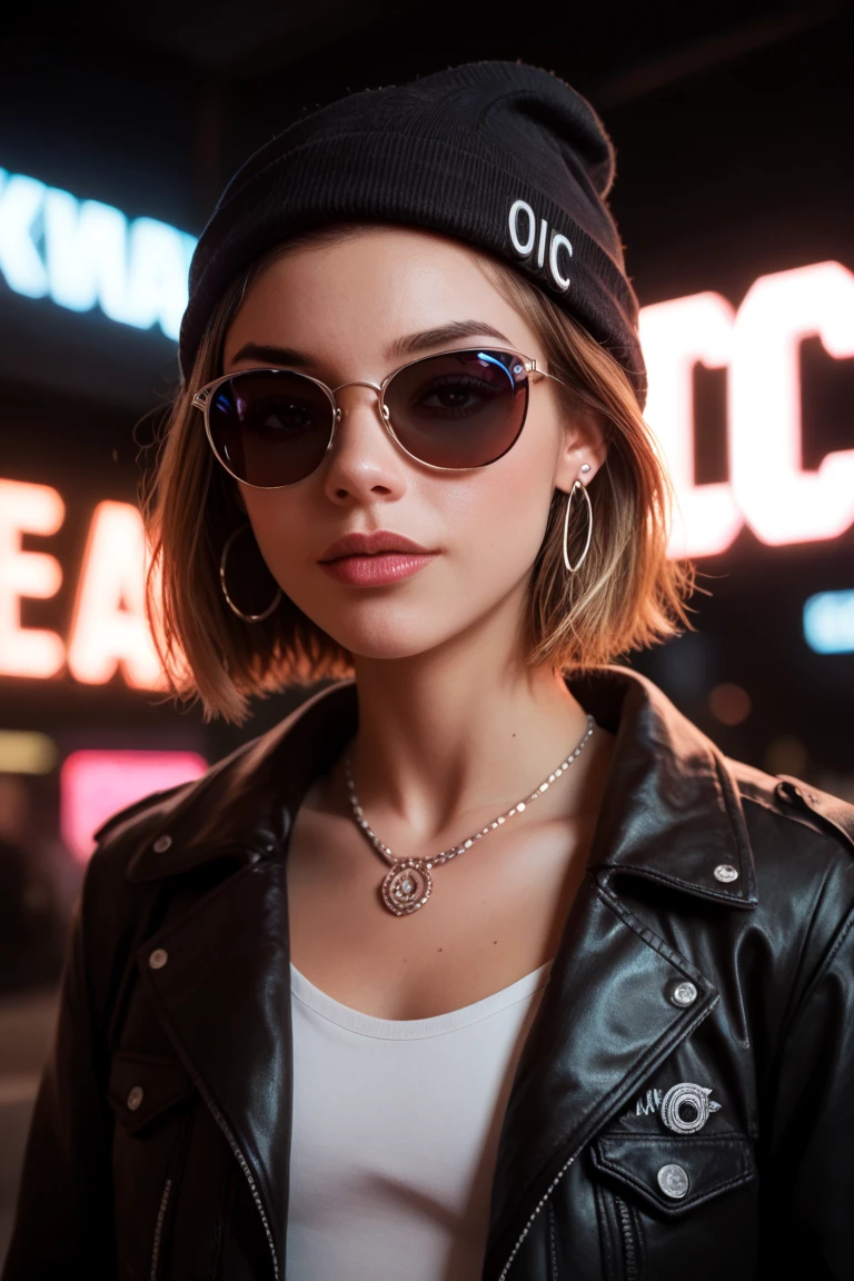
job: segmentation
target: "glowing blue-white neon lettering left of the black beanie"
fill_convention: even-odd
[[[172,339],[187,306],[196,238],[154,218],[0,169],[0,274],[14,293],[72,311],[99,307]]]

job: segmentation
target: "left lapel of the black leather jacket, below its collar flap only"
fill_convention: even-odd
[[[283,1277],[292,1106],[286,865],[227,876],[137,953],[155,1009],[250,1182]]]

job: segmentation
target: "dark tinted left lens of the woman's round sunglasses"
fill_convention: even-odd
[[[207,405],[211,443],[247,484],[294,484],[320,466],[334,409],[323,388],[283,369],[246,370],[220,383]]]

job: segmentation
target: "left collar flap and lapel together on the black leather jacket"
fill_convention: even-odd
[[[284,1277],[292,1113],[287,843],[312,779],[356,729],[355,683],[328,693],[306,699],[198,783],[165,793],[154,812],[149,802],[145,835],[125,870],[128,880],[145,881],[224,856],[248,860],[151,935],[137,966],[248,1180],[275,1278]],[[96,836],[132,829],[134,813],[122,811]]]

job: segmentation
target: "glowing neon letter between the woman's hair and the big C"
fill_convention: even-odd
[[[725,369],[730,360],[735,311],[720,293],[694,293],[643,307],[640,342],[649,373],[645,418],[661,442],[676,489],[681,526],[668,542],[670,556],[714,556],[743,524],[730,484],[695,484],[694,392],[697,364]]]

